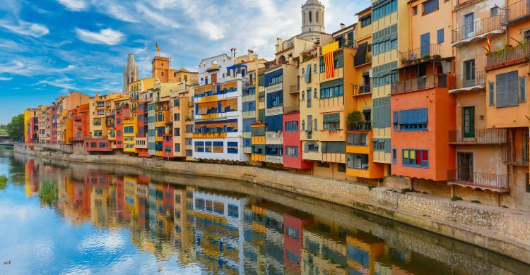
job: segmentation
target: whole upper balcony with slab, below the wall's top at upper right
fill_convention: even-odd
[[[452,34],[452,47],[460,47],[463,44],[476,42],[488,35],[505,32],[502,27],[502,15],[490,16],[473,23],[457,27]]]

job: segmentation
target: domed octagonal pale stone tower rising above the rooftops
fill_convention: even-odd
[[[300,38],[315,40],[322,33],[324,33],[324,5],[319,0],[307,0],[302,6]]]

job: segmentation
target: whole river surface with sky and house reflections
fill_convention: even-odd
[[[0,150],[0,274],[530,274],[530,266],[252,183]]]

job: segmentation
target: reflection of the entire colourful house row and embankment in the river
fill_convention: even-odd
[[[175,270],[213,274],[530,273],[526,264],[472,245],[251,183],[16,155],[13,175],[20,166],[28,197],[38,196],[42,181],[57,182],[59,199],[48,207],[71,230],[126,229],[100,231],[81,244],[118,257],[100,264],[125,260],[118,248],[130,242]]]

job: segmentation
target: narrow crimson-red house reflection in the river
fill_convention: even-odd
[[[312,223],[312,218],[300,218],[300,215],[291,216],[283,215],[283,258],[285,262],[285,271],[300,273],[302,271],[302,245],[303,230],[305,226]]]

